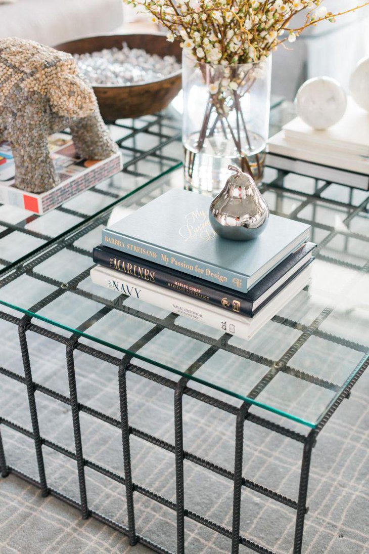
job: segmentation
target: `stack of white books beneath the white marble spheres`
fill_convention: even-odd
[[[311,129],[295,117],[269,139],[266,164],[367,191],[369,114],[349,98],[345,115],[329,129]]]

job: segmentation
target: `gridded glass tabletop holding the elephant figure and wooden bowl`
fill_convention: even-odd
[[[0,204],[0,273],[64,236],[133,189],[178,165],[180,121],[163,114],[108,125],[123,171],[42,216]]]

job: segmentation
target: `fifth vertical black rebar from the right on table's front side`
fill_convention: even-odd
[[[80,408],[79,408],[78,398],[77,398],[76,372],[74,367],[74,356],[73,356],[73,351],[77,345],[77,341],[78,341],[78,337],[75,335],[72,335],[66,344],[66,367],[67,367],[68,382],[69,382],[70,407],[72,411],[74,444],[76,448],[77,472],[78,472],[78,482],[79,482],[79,488],[80,488],[82,519],[88,519],[90,513],[89,513],[89,508],[87,506],[85,462],[84,462],[84,456],[82,452],[82,437],[81,437],[80,414],[79,414]]]

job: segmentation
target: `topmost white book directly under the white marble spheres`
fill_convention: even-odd
[[[369,94],[369,93],[368,93]],[[356,156],[369,156],[369,113],[347,99],[342,119],[328,129],[312,129],[300,117],[283,126],[287,140],[298,140],[307,148],[329,148]]]

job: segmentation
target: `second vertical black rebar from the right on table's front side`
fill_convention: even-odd
[[[240,515],[242,490],[243,427],[250,404],[243,403],[236,418],[235,477],[233,482],[232,554],[240,550]]]

